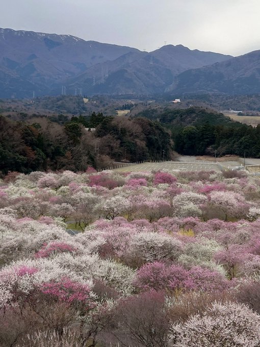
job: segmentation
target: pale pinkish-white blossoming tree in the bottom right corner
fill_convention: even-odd
[[[215,302],[203,315],[175,324],[172,331],[172,347],[256,347],[260,317],[243,304]]]

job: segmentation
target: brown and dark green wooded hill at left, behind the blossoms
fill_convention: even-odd
[[[113,160],[159,160],[171,153],[170,135],[155,121],[105,117],[30,119],[30,124],[0,116],[0,171],[86,170]],[[60,123],[62,124],[60,124]],[[64,123],[64,124],[63,124]],[[95,128],[95,132],[85,128]]]

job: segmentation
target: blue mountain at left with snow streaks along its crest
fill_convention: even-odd
[[[34,90],[39,95],[48,94],[54,84],[63,85],[88,67],[129,52],[139,51],[71,35],[0,29],[0,68],[6,72],[2,80],[6,89],[0,89],[0,96],[31,96]],[[16,92],[11,77],[15,79]]]

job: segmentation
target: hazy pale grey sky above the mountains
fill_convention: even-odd
[[[0,27],[237,56],[260,49],[259,14],[260,0],[2,0]]]

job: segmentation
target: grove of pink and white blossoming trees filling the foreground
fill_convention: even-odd
[[[10,172],[0,238],[1,347],[259,346],[247,172]]]

